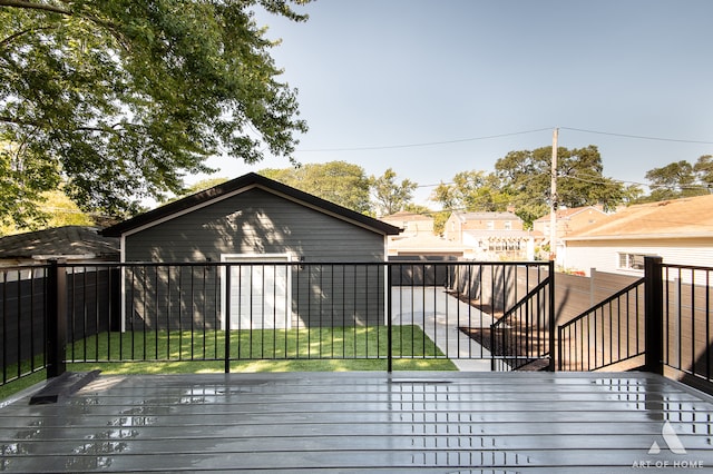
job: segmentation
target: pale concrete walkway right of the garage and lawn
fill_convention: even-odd
[[[459,371],[490,372],[490,353],[459,327],[489,328],[492,317],[449,295],[446,288],[392,288],[391,322],[414,324],[436,343]]]

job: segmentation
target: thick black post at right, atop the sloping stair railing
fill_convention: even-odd
[[[661,257],[644,257],[644,302],[645,368],[663,375],[664,285]]]

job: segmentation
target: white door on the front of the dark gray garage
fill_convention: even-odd
[[[229,265],[229,320],[231,329],[283,329],[291,325],[291,282],[289,255],[223,255]],[[271,264],[279,265],[271,265]],[[240,264],[240,265],[237,265]],[[224,282],[227,270],[224,270]],[[225,288],[225,285],[224,285]],[[225,304],[223,296],[223,307]],[[226,314],[224,310],[223,314]],[[222,324],[225,328],[225,322]]]

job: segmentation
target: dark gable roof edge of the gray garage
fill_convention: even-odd
[[[120,237],[123,235],[133,234],[140,229],[153,227],[166,220],[184,214],[197,210],[202,207],[209,206],[213,203],[227,199],[232,196],[245,192],[250,189],[260,188],[276,196],[297,203],[302,206],[315,209],[334,218],[348,221],[352,225],[363,227],[377,234],[397,235],[401,231],[399,227],[374,219],[354,210],[330,203],[325,199],[313,196],[309,192],[301,191],[291,186],[283,185],[255,172],[248,172],[233,180],[223,182],[213,188],[205,189],[183,199],[166,204],[140,214],[128,220],[119,223],[115,226],[104,229],[101,233],[107,237]]]

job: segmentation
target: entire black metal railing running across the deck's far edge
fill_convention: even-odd
[[[68,362],[216,362],[229,371],[258,359],[387,359],[389,369],[398,359],[479,359],[498,371],[628,364],[705,389],[712,273],[647,257],[643,280],[555,337],[551,264],[2,268],[1,382],[43,368],[56,375]]]

